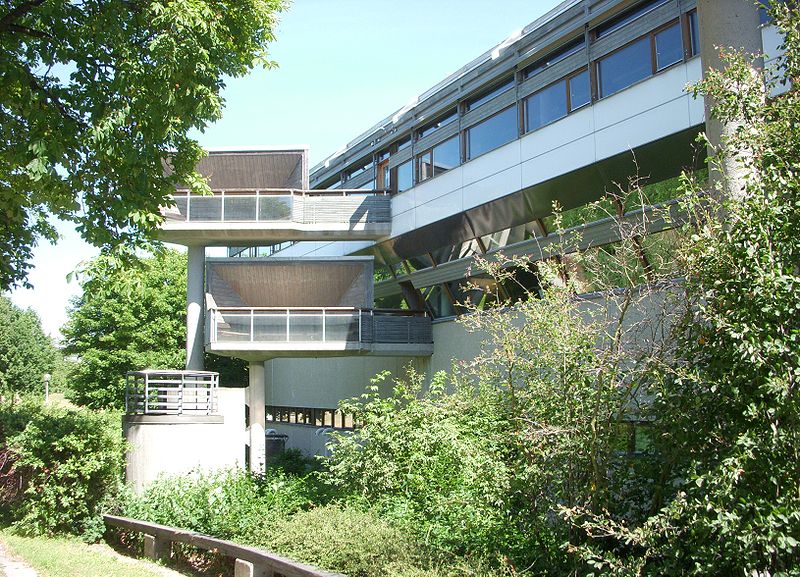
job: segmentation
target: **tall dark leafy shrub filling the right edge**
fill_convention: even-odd
[[[798,78],[800,14],[774,11]],[[634,527],[582,519],[608,573],[800,575],[800,93],[765,99],[749,57],[724,60],[696,91],[733,128],[712,174],[739,178],[694,203],[689,306],[651,387],[666,505]]]

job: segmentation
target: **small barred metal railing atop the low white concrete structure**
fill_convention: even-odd
[[[125,379],[129,415],[211,415],[219,374],[209,371],[132,371]]]

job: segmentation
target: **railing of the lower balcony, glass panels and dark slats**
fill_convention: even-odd
[[[210,343],[433,342],[424,312],[359,308],[215,307],[209,309]]]

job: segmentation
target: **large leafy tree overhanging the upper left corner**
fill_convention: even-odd
[[[6,0],[0,5],[0,288],[74,222],[104,249],[146,243],[176,183],[207,189],[188,136],[224,77],[271,66],[284,0]],[[165,171],[166,165],[170,170]],[[126,251],[121,251],[125,254]]]

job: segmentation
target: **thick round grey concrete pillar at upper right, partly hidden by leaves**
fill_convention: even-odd
[[[762,52],[758,9],[752,0],[698,0],[697,16],[700,25],[700,59],[703,63],[704,76],[709,68],[719,70],[723,67],[720,48],[733,48],[750,54]],[[755,65],[762,64],[756,62]],[[760,72],[754,67],[753,74]],[[738,124],[729,122],[723,125],[712,118],[713,104],[712,99],[705,98],[706,135],[712,147],[709,154],[716,152],[716,148],[724,141],[726,135],[732,134]],[[726,194],[740,194],[746,176],[741,164],[733,158],[727,158],[718,168],[719,171],[711,171],[710,184],[714,185],[721,180]]]

